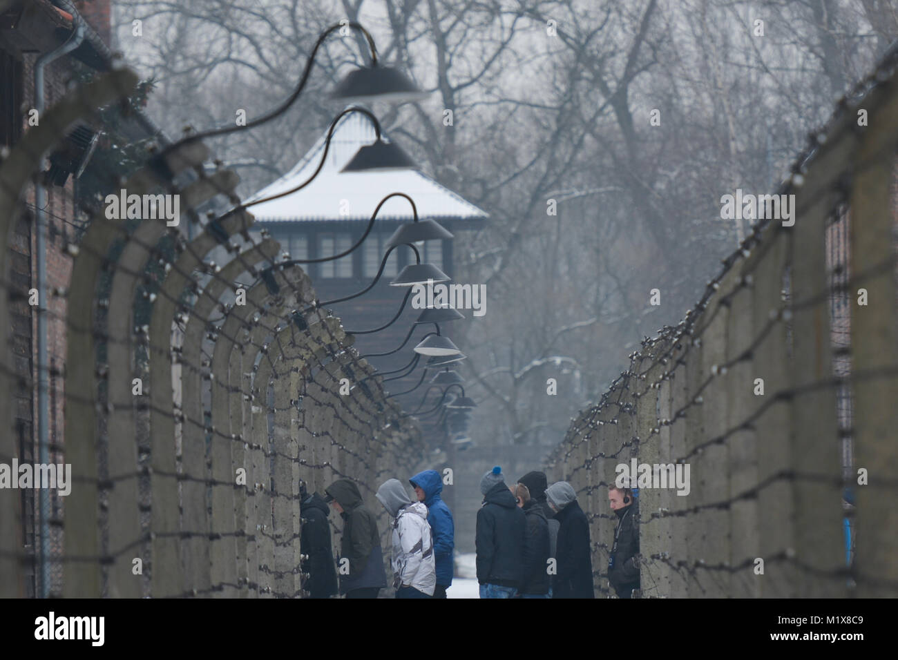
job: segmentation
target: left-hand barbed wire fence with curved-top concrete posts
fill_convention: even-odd
[[[127,113],[136,82],[119,69],[84,84],[6,154],[4,235],[34,219],[28,190],[43,155],[75,121],[98,122],[101,107]],[[44,313],[65,334],[66,363],[48,368],[64,441],[49,449],[74,482],[55,497],[50,527],[62,545],[50,556],[24,542],[23,493],[0,488],[0,595],[25,594],[25,568],[43,564],[57,574],[50,595],[302,596],[300,480],[310,492],[356,480],[388,534],[374,489],[417,462],[418,427],[317,304],[302,268],[282,264],[264,232],[251,235],[237,176],[208,159],[198,140],[157,144],[127,180],[106,172],[110,193],[178,196],[189,231],[92,208],[83,235],[64,235],[71,279],[49,290],[46,311],[29,305],[0,251],[0,318]],[[45,212],[63,223],[57,207],[78,200],[71,187],[54,198]],[[203,210],[216,203],[233,210]],[[39,383],[17,365],[9,323],[0,325],[0,462],[10,463],[22,458],[12,402]],[[347,381],[355,386],[341,394]]]

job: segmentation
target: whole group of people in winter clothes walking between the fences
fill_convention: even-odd
[[[439,472],[409,479],[417,501],[400,480],[381,484],[375,497],[391,517],[392,586],[397,598],[445,598],[453,580],[454,525],[443,501]],[[589,522],[567,481],[548,484],[532,471],[506,484],[495,467],[480,480],[475,547],[480,598],[593,598]],[[306,589],[313,598],[345,594],[376,598],[387,586],[374,513],[353,480],[335,480],[324,496],[300,484],[301,543],[307,559]],[[636,498],[628,488],[610,488],[618,517],[608,578],[621,598],[639,586]],[[329,505],[343,519],[339,560],[330,548]],[[339,580],[338,580],[339,573]]]

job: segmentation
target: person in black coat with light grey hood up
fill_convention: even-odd
[[[560,523],[552,598],[594,598],[589,522],[577,504],[577,493],[567,481],[558,481],[546,489],[546,499]]]

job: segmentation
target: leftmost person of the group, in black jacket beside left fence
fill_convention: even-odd
[[[309,598],[330,598],[337,593],[337,570],[330,550],[330,510],[318,493],[309,495],[305,482],[299,482],[299,511],[304,518],[300,529],[300,548],[305,559],[301,566],[309,577],[304,588]]]

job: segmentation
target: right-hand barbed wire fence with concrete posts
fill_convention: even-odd
[[[794,224],[756,224],[548,457],[590,520],[597,594],[613,594],[608,486],[636,459],[691,469],[688,495],[634,484],[643,597],[898,595],[895,63],[810,136],[777,191]]]

